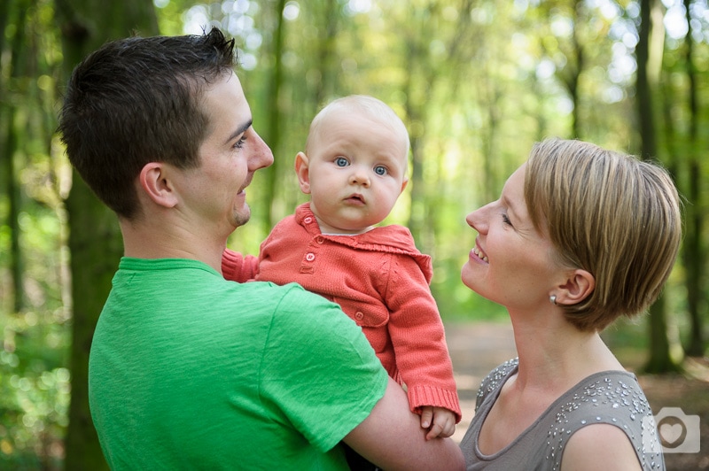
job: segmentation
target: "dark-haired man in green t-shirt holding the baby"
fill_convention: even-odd
[[[344,441],[380,467],[463,467],[337,305],[223,280],[245,189],[273,161],[233,50],[218,29],[110,42],[68,84],[66,152],[125,246],[90,353],[109,465],[339,469]]]

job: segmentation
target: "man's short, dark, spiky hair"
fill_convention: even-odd
[[[136,176],[149,162],[199,166],[204,90],[235,66],[234,40],[205,35],[107,42],[74,68],[59,115],[66,153],[119,216],[138,211]]]

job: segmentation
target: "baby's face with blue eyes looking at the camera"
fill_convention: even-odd
[[[310,207],[323,233],[370,229],[392,211],[408,181],[405,136],[362,114],[329,116],[308,147]]]

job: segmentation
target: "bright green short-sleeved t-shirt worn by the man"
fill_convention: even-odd
[[[113,469],[341,469],[387,376],[338,305],[187,259],[121,259],[89,362]]]

